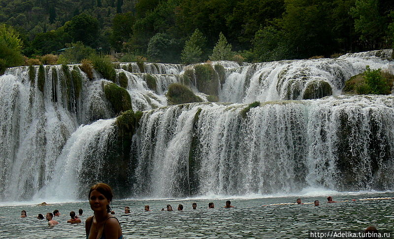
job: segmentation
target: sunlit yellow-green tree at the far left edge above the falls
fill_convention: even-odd
[[[24,59],[21,55],[21,40],[18,33],[10,26],[0,24],[0,74],[5,68],[21,66]]]

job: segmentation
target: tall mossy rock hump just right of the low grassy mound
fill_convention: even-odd
[[[218,96],[219,75],[211,64],[195,66],[196,86],[198,91],[207,95]]]

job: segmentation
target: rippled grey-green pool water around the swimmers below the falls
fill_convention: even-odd
[[[394,197],[393,193],[357,196],[334,196],[335,201],[353,198]],[[226,199],[214,200],[119,200],[113,209],[121,222],[124,237],[139,238],[308,238],[308,232],[363,231],[373,225],[378,230],[393,231],[394,200],[357,201],[327,204],[325,197],[302,198],[303,202],[320,200],[320,206],[274,205],[293,203],[296,198],[234,199],[235,208],[223,208]],[[215,209],[208,209],[208,203]],[[197,202],[197,210],[192,203]],[[161,211],[170,204],[175,209],[184,205],[184,211]],[[124,215],[124,206],[130,206],[131,214]],[[150,205],[150,212],[144,211]],[[24,205],[0,207],[0,238],[85,238],[84,223],[66,223],[69,211],[84,209],[82,221],[92,215],[88,202],[65,203],[48,206]],[[20,211],[28,212],[27,218],[19,218]],[[60,225],[50,228],[47,222],[35,217],[59,209]]]

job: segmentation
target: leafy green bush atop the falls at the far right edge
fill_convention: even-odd
[[[364,71],[365,82],[357,86],[356,91],[358,94],[367,95],[389,95],[391,94],[390,85],[386,78],[382,76],[381,69],[371,70],[369,66]]]

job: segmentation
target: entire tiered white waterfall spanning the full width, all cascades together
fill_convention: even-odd
[[[393,97],[338,96],[367,65],[393,69],[390,56],[213,62],[211,86],[233,104],[174,106],[169,84],[197,65],[121,63],[115,83],[124,73],[133,110],[147,110],[132,139],[96,71],[90,80],[78,65],[10,68],[0,76],[0,200],[75,199],[96,180],[122,197],[393,189]],[[254,101],[244,118],[241,103]]]

